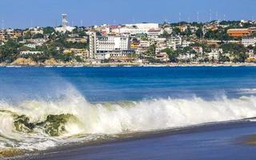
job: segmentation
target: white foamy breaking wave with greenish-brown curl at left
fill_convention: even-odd
[[[256,97],[90,103],[70,91],[48,101],[0,102],[0,148],[45,150],[106,135],[256,117]]]

